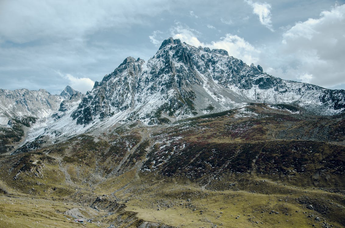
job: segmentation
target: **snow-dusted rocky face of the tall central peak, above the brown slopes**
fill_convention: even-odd
[[[194,47],[170,37],[147,63],[127,57],[96,82],[71,117],[84,126],[111,117],[155,124],[245,102],[293,104],[313,114],[333,115],[344,110],[345,91],[273,77],[225,50]]]

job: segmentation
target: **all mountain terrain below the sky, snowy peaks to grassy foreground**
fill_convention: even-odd
[[[169,38],[85,95],[0,97],[0,227],[345,226],[344,90]]]

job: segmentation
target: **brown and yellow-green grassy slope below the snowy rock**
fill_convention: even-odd
[[[344,226],[343,118],[244,111],[4,157],[0,227],[82,226],[63,217],[73,207],[88,227]]]

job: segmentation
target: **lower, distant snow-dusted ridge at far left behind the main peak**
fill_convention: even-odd
[[[36,138],[48,118],[57,115],[58,110],[67,110],[75,97],[80,96],[80,92],[69,86],[60,96],[44,89],[0,89],[0,154],[12,152],[26,140],[30,141],[31,134]],[[66,97],[68,100],[64,100]]]

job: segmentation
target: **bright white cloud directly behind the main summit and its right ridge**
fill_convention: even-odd
[[[230,56],[242,59],[247,64],[258,62],[260,51],[237,35],[226,34],[225,37],[221,37],[218,41],[203,43],[197,38],[197,35],[200,34],[199,32],[190,29],[187,26],[182,26],[181,24],[173,27],[171,29],[171,33],[174,39],[180,39],[182,42],[186,42],[187,44],[196,47],[203,46],[211,49],[224,49]]]

